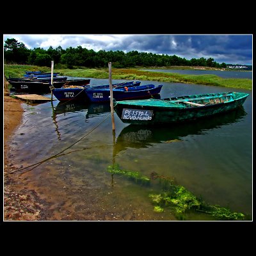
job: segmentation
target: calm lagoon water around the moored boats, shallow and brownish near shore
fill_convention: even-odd
[[[22,175],[47,202],[49,220],[177,220],[170,208],[153,211],[148,195],[163,192],[159,180],[145,186],[124,175],[111,176],[113,163],[147,177],[152,172],[174,177],[208,204],[252,220],[252,91],[141,81],[149,83],[163,84],[162,98],[230,91],[250,95],[236,111],[169,127],[127,125],[115,114],[115,136],[109,104],[22,104],[24,117],[11,145],[15,166],[61,152]],[[91,84],[108,84],[108,79],[91,79]],[[186,220],[215,219],[191,212]]]

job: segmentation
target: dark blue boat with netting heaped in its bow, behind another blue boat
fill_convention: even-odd
[[[127,88],[131,86],[140,86],[140,81],[129,81],[124,83],[115,83],[112,84],[113,88]],[[63,86],[62,88],[53,88],[52,93],[56,97],[56,99],[60,101],[67,101],[67,100],[75,100],[79,102],[90,102],[88,96],[86,94],[86,90],[102,90],[102,89],[109,90],[109,84],[104,85],[95,85],[95,86],[74,86],[72,85],[71,81],[68,86]]]

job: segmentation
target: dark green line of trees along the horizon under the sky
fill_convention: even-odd
[[[226,63],[217,63],[213,58],[180,58],[176,55],[154,54],[152,52],[138,51],[105,51],[98,52],[88,50],[81,46],[68,47],[62,49],[61,46],[54,49],[52,46],[45,50],[40,47],[28,49],[22,42],[18,42],[15,38],[8,38],[4,41],[4,63],[8,64],[27,64],[40,67],[51,67],[51,61],[55,64],[66,65],[67,68],[90,67],[101,68],[108,67],[111,62],[115,68],[127,67],[164,67],[164,66],[201,66],[225,68]]]

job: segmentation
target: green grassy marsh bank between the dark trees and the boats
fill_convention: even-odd
[[[4,65],[4,76],[23,77],[26,70],[51,72],[49,67],[37,67],[31,65]],[[108,68],[54,68],[54,72],[60,72],[61,76],[76,76],[108,79]],[[221,78],[215,75],[185,75],[164,72],[149,72],[136,68],[113,68],[112,79],[159,81],[170,83],[193,83],[252,90],[252,79]]]

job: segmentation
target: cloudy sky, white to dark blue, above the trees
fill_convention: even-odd
[[[214,58],[218,63],[252,65],[252,35],[3,35],[29,49],[81,45],[94,51],[138,51],[177,55],[181,58]]]

